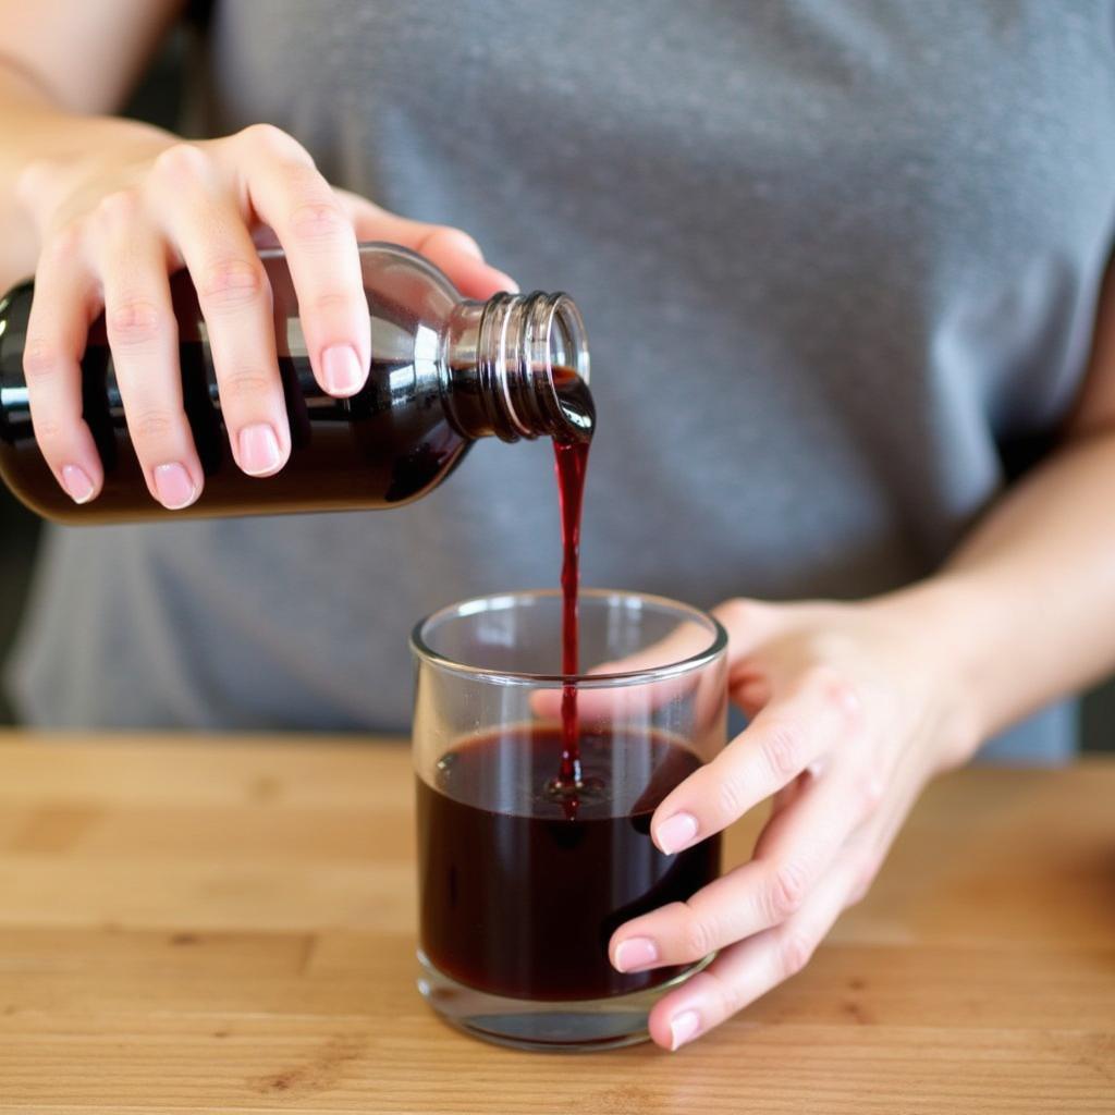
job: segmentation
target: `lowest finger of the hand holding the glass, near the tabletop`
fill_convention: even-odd
[[[792,918],[725,949],[663,996],[648,1019],[656,1044],[678,1049],[799,972],[847,904],[854,874],[841,859]]]

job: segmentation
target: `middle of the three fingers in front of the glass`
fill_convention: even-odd
[[[851,833],[875,812],[880,796],[852,764],[815,779],[768,821],[749,863],[686,902],[620,927],[609,947],[613,966],[633,971],[695,963],[782,924],[808,901]]]

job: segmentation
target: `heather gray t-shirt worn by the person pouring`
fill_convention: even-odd
[[[206,127],[278,124],[575,297],[588,584],[854,598],[930,573],[1070,406],[1113,42],[1112,0],[224,0]],[[544,443],[391,512],[54,530],[16,692],[46,725],[399,728],[413,622],[558,564]]]

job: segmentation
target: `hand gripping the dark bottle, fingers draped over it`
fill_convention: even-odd
[[[201,494],[168,282],[181,268],[197,289],[233,456],[252,476],[272,475],[290,454],[260,246],[285,251],[314,377],[337,397],[363,386],[370,360],[358,241],[411,248],[472,298],[514,289],[466,233],[332,187],[270,125],[185,143],[145,125],[90,120],[89,138],[87,155],[38,158],[17,183],[40,246],[25,357],[35,435],[78,503],[95,498],[104,478],[81,415],[79,366],[101,311],[152,496],[177,510]]]

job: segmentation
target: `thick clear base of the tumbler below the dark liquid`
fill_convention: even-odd
[[[465,987],[435,968],[419,949],[417,982],[423,998],[445,1021],[474,1037],[513,1049],[592,1053],[649,1040],[650,1008],[706,963],[702,960],[666,983],[631,995],[535,1002]]]

